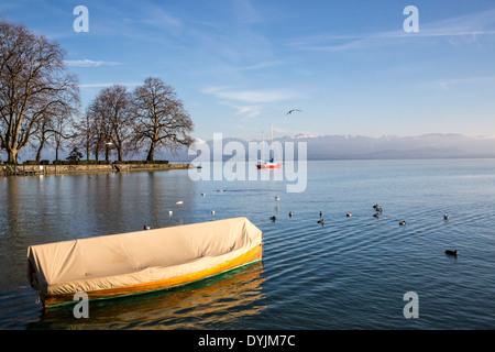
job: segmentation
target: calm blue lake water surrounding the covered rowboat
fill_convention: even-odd
[[[494,160],[309,162],[307,178],[294,194],[187,170],[0,178],[0,329],[495,328]],[[263,231],[262,263],[94,304],[89,319],[44,311],[29,287],[31,244],[240,216]]]

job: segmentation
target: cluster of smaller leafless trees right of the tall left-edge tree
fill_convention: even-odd
[[[114,85],[102,89],[76,124],[79,145],[86,157],[101,154],[118,161],[145,148],[152,161],[161,146],[175,150],[189,145],[193,121],[174,89],[160,78],[147,78],[134,91]]]

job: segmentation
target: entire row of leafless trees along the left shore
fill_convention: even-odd
[[[25,146],[47,144],[56,158],[64,141],[86,158],[117,160],[157,148],[175,150],[193,142],[193,121],[170,86],[147,78],[133,91],[114,85],[102,89],[85,111],[77,77],[67,73],[65,52],[56,42],[23,25],[0,19],[0,152],[16,163]]]

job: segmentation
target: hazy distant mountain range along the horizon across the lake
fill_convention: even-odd
[[[223,139],[223,146],[231,141],[241,143],[246,152],[249,151],[249,142],[261,142],[229,138]],[[495,138],[470,138],[461,134],[432,133],[403,138],[395,135],[370,138],[363,135],[314,136],[299,134],[275,139],[274,142],[279,142],[282,145],[286,142],[294,142],[295,152],[298,150],[298,142],[306,142],[308,161],[495,157]],[[202,143],[207,143],[212,151],[213,141],[196,141],[198,147]],[[177,155],[166,152],[161,154],[161,157],[170,161],[190,162],[196,158],[194,155],[187,155],[187,148],[183,148]],[[231,155],[226,155],[223,158],[230,160],[231,157]],[[239,157],[244,158],[243,155]],[[256,156],[250,156],[249,158],[256,160]]]

